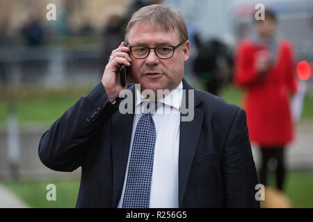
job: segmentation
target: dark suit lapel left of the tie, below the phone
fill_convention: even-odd
[[[129,88],[134,95],[134,85]],[[134,110],[134,98],[133,98]],[[117,111],[112,117],[112,161],[113,161],[113,200],[112,207],[118,207],[118,201],[122,194],[129,146],[131,143],[131,131],[134,114],[121,114]]]

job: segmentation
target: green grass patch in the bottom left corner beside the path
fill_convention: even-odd
[[[56,200],[46,198],[47,185],[56,185]],[[34,208],[72,208],[75,207],[79,192],[79,180],[40,180],[22,182],[3,182],[29,207]]]

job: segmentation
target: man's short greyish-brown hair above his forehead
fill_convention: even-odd
[[[150,24],[161,31],[176,31],[181,42],[188,40],[188,30],[184,18],[174,8],[163,5],[145,6],[134,13],[125,29],[125,42],[135,24]]]

